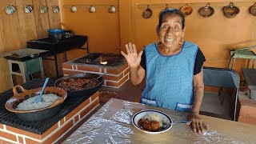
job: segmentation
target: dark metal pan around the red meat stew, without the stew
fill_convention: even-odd
[[[54,86],[58,87],[62,81],[68,81],[70,78],[97,78],[99,83],[94,87],[90,87],[88,89],[84,88],[81,90],[66,90],[69,97],[88,97],[98,91],[98,89],[102,86],[103,78],[100,77],[100,74],[91,74],[91,73],[82,73],[82,74],[74,74],[66,77],[59,78]]]

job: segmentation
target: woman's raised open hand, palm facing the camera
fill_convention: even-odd
[[[127,54],[121,51],[121,54],[126,58],[128,65],[131,68],[135,68],[140,65],[142,60],[142,51],[137,53],[136,46],[134,44],[126,44]]]

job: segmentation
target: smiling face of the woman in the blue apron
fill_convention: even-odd
[[[178,14],[166,14],[162,18],[162,25],[159,26],[158,36],[163,48],[178,46],[178,42],[184,37],[185,28],[182,30],[182,18]]]

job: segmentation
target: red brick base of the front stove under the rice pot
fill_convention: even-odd
[[[99,93],[96,92],[85,102],[82,102],[70,114],[50,127],[44,134],[34,134],[25,130],[19,130],[12,126],[0,123],[0,143],[55,143],[63,138],[74,126],[84,119],[88,119],[89,115],[99,105]]]

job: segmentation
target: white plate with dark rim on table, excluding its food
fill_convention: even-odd
[[[142,128],[140,126],[138,126],[138,120],[141,118],[144,118],[148,114],[158,114],[162,119],[166,119],[166,124],[167,124],[166,129],[154,131],[154,132],[142,130]],[[142,130],[143,132],[148,133],[148,134],[160,134],[160,133],[166,132],[167,130],[170,130],[170,128],[172,126],[172,124],[170,124],[170,123],[173,123],[172,119],[167,114],[165,114],[161,111],[158,111],[158,110],[139,111],[138,113],[134,114],[134,117],[132,118],[132,122],[138,130]]]

